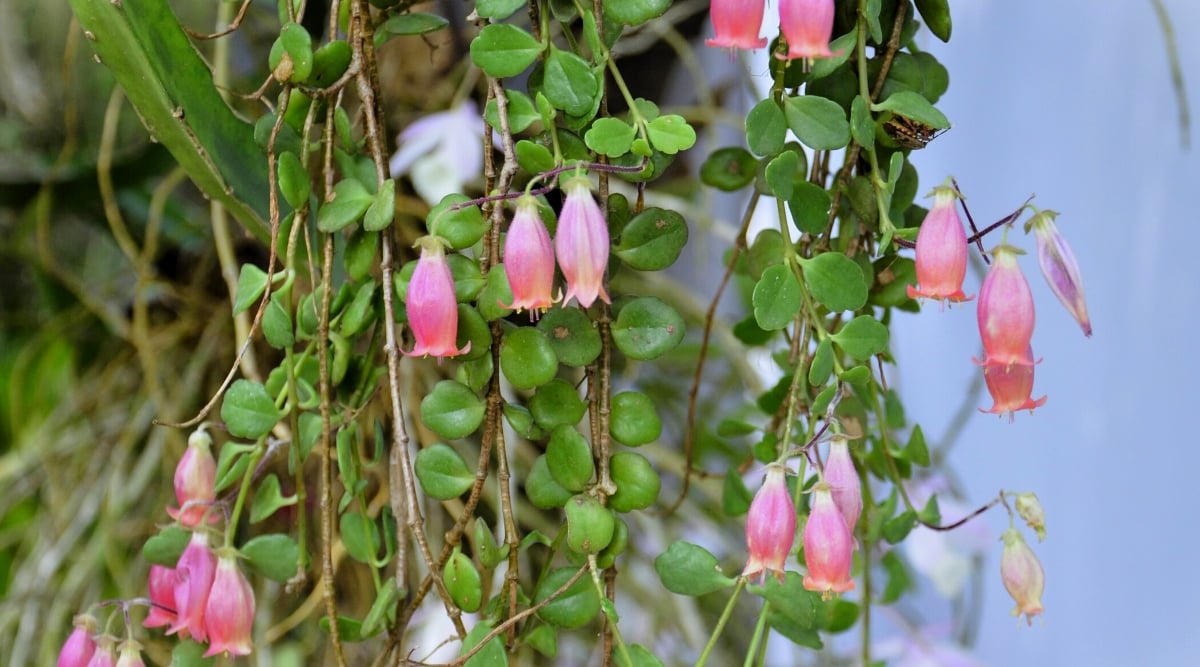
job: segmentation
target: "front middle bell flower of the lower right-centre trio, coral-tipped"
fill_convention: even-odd
[[[850,578],[854,547],[850,528],[833,501],[828,482],[812,487],[812,510],[804,524],[804,563],[809,573],[804,575],[804,588],[821,593],[829,600],[835,593],[854,589]]]

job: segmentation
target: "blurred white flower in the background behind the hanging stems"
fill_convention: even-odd
[[[437,204],[482,174],[482,139],[484,119],[473,101],[432,113],[400,133],[391,174],[408,174],[416,193]]]

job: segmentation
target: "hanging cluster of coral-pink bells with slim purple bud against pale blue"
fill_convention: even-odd
[[[966,276],[968,239],[958,215],[961,194],[949,185],[934,188],[934,206],[917,235],[917,286],[908,286],[913,299],[968,301],[962,292]],[[1015,217],[1014,214],[1013,217]],[[1037,211],[1026,223],[1038,242],[1038,263],[1051,290],[1075,318],[1084,334],[1091,336],[1092,324],[1084,299],[1084,283],[1075,256],[1054,224],[1054,211]],[[1033,293],[1025,280],[1018,257],[1022,252],[1001,242],[990,252],[991,266],[979,288],[976,317],[984,356],[976,360],[983,367],[984,383],[992,407],[980,411],[1008,415],[1033,410],[1046,397],[1033,398]]]

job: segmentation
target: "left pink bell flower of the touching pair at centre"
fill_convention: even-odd
[[[538,200],[526,194],[517,199],[517,211],[504,238],[504,274],[512,288],[512,302],[502,304],[516,311],[527,308],[530,319],[548,308],[554,299],[554,246],[538,214]]]

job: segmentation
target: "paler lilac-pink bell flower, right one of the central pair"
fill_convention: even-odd
[[[598,296],[611,304],[604,289],[604,274],[608,268],[608,223],[592,197],[592,181],[586,176],[574,176],[566,180],[563,191],[566,199],[554,235],[554,253],[566,277],[563,304],[572,296],[584,308]]]

